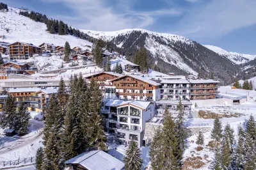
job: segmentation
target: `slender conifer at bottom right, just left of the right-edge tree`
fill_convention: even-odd
[[[244,131],[241,126],[238,127],[238,141],[236,146],[235,163],[236,169],[244,169]]]

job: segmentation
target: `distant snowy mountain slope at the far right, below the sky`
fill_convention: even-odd
[[[214,45],[204,45],[208,49],[220,54],[221,56],[229,59],[230,61],[236,63],[237,65],[242,63],[247,63],[256,58],[256,55],[250,54],[239,54],[237,52],[228,52],[227,50],[223,50],[220,47],[216,47]]]

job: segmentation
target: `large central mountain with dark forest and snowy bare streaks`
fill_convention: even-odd
[[[132,56],[140,47],[148,50],[148,63],[157,63],[161,72],[194,74],[201,77],[219,79],[222,84],[233,82],[235,76],[242,77],[238,65],[200,43],[183,36],[161,34],[145,29],[124,29],[113,32],[86,31],[94,38],[102,38],[122,48],[122,53],[132,61]]]

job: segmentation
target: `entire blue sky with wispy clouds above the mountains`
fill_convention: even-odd
[[[2,0],[79,29],[144,28],[256,54],[255,0]]]

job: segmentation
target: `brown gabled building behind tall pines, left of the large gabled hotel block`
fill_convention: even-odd
[[[93,73],[92,75],[88,75],[84,77],[88,82],[91,82],[92,80],[96,81],[100,89],[104,91],[105,86],[111,86],[111,80],[116,79],[117,77],[122,77],[123,75],[120,73],[114,73],[114,72],[99,72],[99,73]]]

